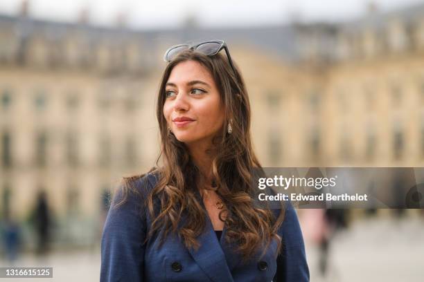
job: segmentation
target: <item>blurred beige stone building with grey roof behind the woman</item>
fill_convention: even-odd
[[[158,155],[166,48],[225,39],[267,167],[424,164],[424,6],[346,23],[132,30],[0,15],[1,206],[47,191],[58,218],[96,223],[121,176]]]

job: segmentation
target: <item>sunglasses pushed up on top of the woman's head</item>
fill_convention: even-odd
[[[210,41],[203,41],[198,44],[179,44],[172,46],[166,50],[164,55],[165,62],[170,62],[172,59],[177,57],[179,53],[182,53],[184,50],[196,50],[197,52],[200,52],[207,56],[213,56],[215,54],[218,54],[220,50],[224,49],[225,53],[227,54],[228,62],[233,69],[234,73],[236,73],[233,61],[231,60],[231,56],[229,55],[229,50],[227,47],[227,44],[223,40],[210,40]]]

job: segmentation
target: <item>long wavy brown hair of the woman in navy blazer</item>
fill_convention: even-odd
[[[186,247],[197,249],[200,245],[197,236],[206,227],[207,213],[202,207],[202,198],[196,193],[199,189],[196,183],[200,179],[200,170],[193,163],[186,145],[168,131],[164,117],[168,77],[177,64],[190,60],[200,63],[211,73],[225,108],[224,125],[221,132],[213,138],[209,151],[213,154],[211,176],[217,187],[215,191],[226,207],[222,210],[226,213],[225,240],[235,243],[236,252],[247,260],[263,244],[268,246],[276,236],[276,231],[283,222],[284,209],[275,218],[270,209],[254,205],[252,171],[261,169],[261,166],[251,144],[249,97],[238,67],[235,64],[233,71],[220,53],[209,57],[186,50],[168,63],[162,75],[157,99],[161,152],[157,158],[157,167],[149,171],[155,173],[159,180],[144,199],[144,206],[148,207],[152,218],[147,237],[161,236],[163,242],[170,232],[176,232]],[[230,119],[233,128],[231,134],[227,133]],[[121,187],[125,195],[134,190],[134,181],[142,176],[144,174],[123,178]]]

